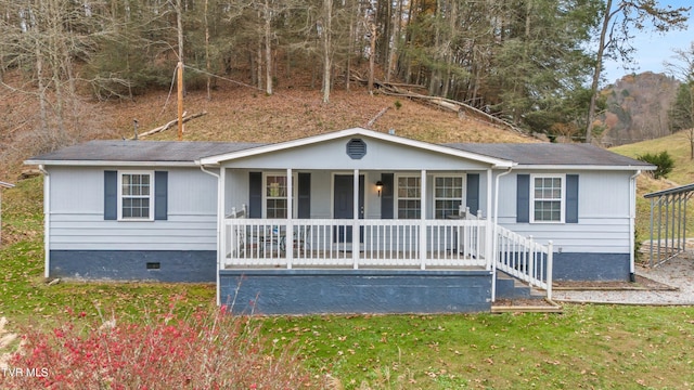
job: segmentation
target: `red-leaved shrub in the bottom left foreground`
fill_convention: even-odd
[[[317,387],[293,348],[275,349],[249,316],[200,311],[154,324],[28,327],[2,389],[297,389]],[[97,324],[98,325],[98,324]],[[21,372],[18,372],[21,370]]]

